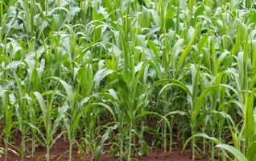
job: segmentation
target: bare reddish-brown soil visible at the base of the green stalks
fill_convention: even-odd
[[[43,161],[45,160],[45,153],[46,148],[45,147],[37,147],[35,151],[35,157],[31,158],[30,155],[26,155],[26,161]],[[160,150],[154,150],[150,151],[148,155],[146,156],[138,156],[134,158],[134,160],[140,160],[140,161],[188,161],[192,160],[192,152],[191,151],[184,151],[183,154],[181,154],[180,151],[172,151],[169,152],[163,152]],[[0,160],[4,160],[4,155],[0,157]],[[15,155],[13,152],[9,151],[7,155],[8,161],[20,161],[19,155]],[[68,161],[68,142],[65,142],[64,140],[58,140],[55,145],[51,149],[51,161]],[[72,153],[72,160],[73,161],[89,161],[90,156],[80,156],[78,155],[78,150],[76,147],[73,148]],[[101,156],[102,161],[115,161],[118,160],[118,158],[109,158],[106,154],[102,154]],[[197,159],[197,160],[204,160],[204,159]]]

